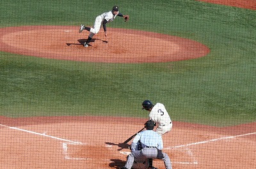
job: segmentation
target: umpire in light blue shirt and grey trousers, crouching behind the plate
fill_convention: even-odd
[[[121,169],[131,169],[134,163],[134,158],[136,159],[163,159],[164,166],[166,169],[172,169],[172,163],[169,156],[162,152],[163,150],[163,140],[162,136],[153,131],[154,126],[156,126],[154,121],[145,122],[145,128],[147,130],[141,131],[134,137],[131,143],[131,154],[129,154],[125,166]],[[136,151],[137,144],[141,143],[142,149]]]

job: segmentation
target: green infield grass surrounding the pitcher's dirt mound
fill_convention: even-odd
[[[0,27],[93,25],[118,4],[131,20],[108,27],[141,29],[204,43],[189,61],[107,64],[0,52],[0,115],[147,117],[141,102],[166,105],[173,121],[230,126],[256,120],[256,12],[196,1],[8,1]],[[97,8],[95,8],[97,6]]]

